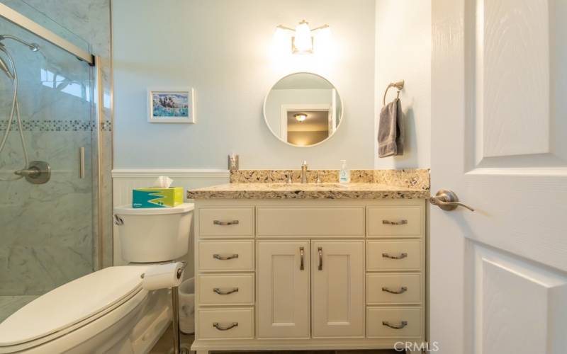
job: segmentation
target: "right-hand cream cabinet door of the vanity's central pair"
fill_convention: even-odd
[[[313,241],[313,338],[364,336],[364,241]]]

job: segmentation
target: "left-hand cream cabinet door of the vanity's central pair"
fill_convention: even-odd
[[[258,338],[309,338],[309,242],[257,242]]]

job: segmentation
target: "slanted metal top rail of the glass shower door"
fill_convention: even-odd
[[[24,30],[28,30],[30,33],[33,33],[34,35],[37,35],[38,37],[43,38],[44,40],[47,40],[47,42],[51,42],[53,45],[60,47],[62,50],[71,53],[72,55],[77,57],[77,59],[86,62],[91,67],[94,66],[95,64],[94,55],[87,52],[86,50],[82,50],[81,48],[77,47],[77,45],[74,45],[72,42],[69,42],[68,40],[61,38],[59,35],[56,35],[52,31],[43,27],[43,25],[31,21],[29,18],[23,16],[21,13],[13,10],[9,6],[0,4],[0,16],[6,18],[6,20],[10,21],[11,23],[14,23],[15,25],[18,25]]]

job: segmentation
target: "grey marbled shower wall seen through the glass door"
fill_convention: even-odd
[[[103,190],[111,202],[111,69],[108,1],[1,1],[41,23],[75,45],[101,55],[103,63],[104,130]],[[69,3],[69,4],[63,4]],[[80,3],[80,4],[79,4]],[[38,8],[30,10],[28,4]],[[27,12],[26,12],[27,11]],[[51,12],[51,13],[50,13]],[[42,14],[43,13],[43,14]],[[62,28],[45,15],[54,18]],[[99,18],[100,21],[93,21]],[[90,28],[87,28],[90,26]],[[80,31],[78,30],[80,28]],[[96,267],[93,223],[94,185],[90,149],[96,136],[91,93],[93,70],[72,55],[0,20],[0,32],[38,42],[41,53],[16,43],[11,50],[18,75],[20,108],[30,160],[48,161],[52,179],[44,185],[26,181],[0,182],[0,295],[40,295],[53,287],[90,273]],[[90,38],[84,38],[88,34]],[[96,46],[96,49],[95,49]],[[11,86],[0,76],[0,136],[6,131]],[[96,146],[96,145],[93,145]],[[86,147],[86,178],[78,178],[78,148]],[[95,148],[96,149],[96,148]],[[96,152],[96,150],[94,151]],[[0,178],[13,176],[23,165],[17,127],[11,127],[0,155]],[[106,172],[106,173],[104,173]],[[108,214],[111,209],[106,207]],[[112,247],[110,215],[106,240]],[[110,235],[110,236],[108,236]],[[108,252],[106,265],[112,260]]]

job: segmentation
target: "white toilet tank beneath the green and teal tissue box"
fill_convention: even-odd
[[[128,262],[172,261],[189,251],[193,204],[114,208],[122,258]]]

